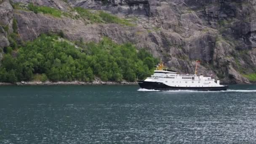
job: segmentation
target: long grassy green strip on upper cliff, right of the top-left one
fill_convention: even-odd
[[[103,11],[92,12],[88,9],[76,7],[75,10],[80,14],[82,18],[88,19],[91,23],[104,23],[104,24],[122,24],[126,26],[134,26],[130,21],[121,19],[118,16],[114,16]]]

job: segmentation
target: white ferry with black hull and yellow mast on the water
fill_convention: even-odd
[[[192,91],[226,91],[227,85],[220,85],[220,81],[197,75],[197,66],[200,61],[196,61],[195,74],[180,75],[175,71],[164,69],[161,60],[154,74],[147,77],[145,80],[137,80],[141,88],[160,91],[177,91],[177,90],[192,90]]]

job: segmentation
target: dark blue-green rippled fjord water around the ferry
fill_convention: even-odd
[[[226,92],[138,89],[2,86],[0,144],[256,143],[256,85]]]

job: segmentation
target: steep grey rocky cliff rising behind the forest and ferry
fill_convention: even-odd
[[[29,3],[62,15],[29,11]],[[93,21],[75,7],[112,13],[132,24]],[[107,36],[147,48],[180,73],[193,73],[195,60],[201,60],[201,74],[249,83],[256,73],[255,11],[256,0],[0,0],[0,47],[10,45],[15,20],[23,41],[47,32],[85,42]]]

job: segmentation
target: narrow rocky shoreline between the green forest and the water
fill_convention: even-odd
[[[137,85],[137,82],[103,82],[103,81],[93,81],[93,82],[80,82],[80,81],[72,81],[72,82],[40,82],[40,81],[29,81],[29,82],[17,82],[17,83],[0,83],[2,85]]]

